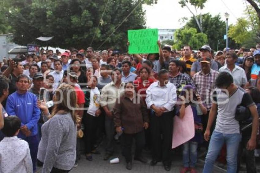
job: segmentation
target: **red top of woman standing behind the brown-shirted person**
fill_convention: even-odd
[[[144,103],[146,104],[145,102],[145,99],[146,99],[146,90],[148,87],[150,87],[150,85],[152,83],[154,83],[155,81],[157,81],[156,79],[152,79],[152,78],[148,78],[148,80],[145,82],[145,85],[143,85],[143,81],[141,79],[141,77],[138,77],[136,80],[134,80],[134,85],[135,85],[135,90],[136,90],[136,93],[137,94],[140,94],[143,98],[143,101]],[[142,90],[141,90],[142,89]],[[141,90],[141,91],[139,91]]]

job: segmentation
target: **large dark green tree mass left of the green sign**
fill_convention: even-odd
[[[13,41],[19,45],[44,45],[35,38],[54,36],[48,46],[125,49],[127,30],[145,28],[142,0],[5,1],[10,6],[8,22],[13,28]]]

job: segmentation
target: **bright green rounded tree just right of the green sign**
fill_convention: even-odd
[[[207,35],[197,33],[196,28],[177,29],[174,33],[174,38],[173,48],[177,50],[180,50],[183,45],[190,45],[193,50],[198,50],[208,42]]]

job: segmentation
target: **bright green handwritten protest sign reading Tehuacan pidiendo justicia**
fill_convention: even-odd
[[[128,53],[159,53],[158,29],[129,30],[128,41]]]

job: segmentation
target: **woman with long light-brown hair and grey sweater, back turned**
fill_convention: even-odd
[[[43,164],[42,172],[69,172],[76,160],[78,105],[75,89],[68,84],[61,84],[55,91],[53,101],[51,115],[46,105],[38,102],[44,119],[49,118],[42,126],[38,160]]]

